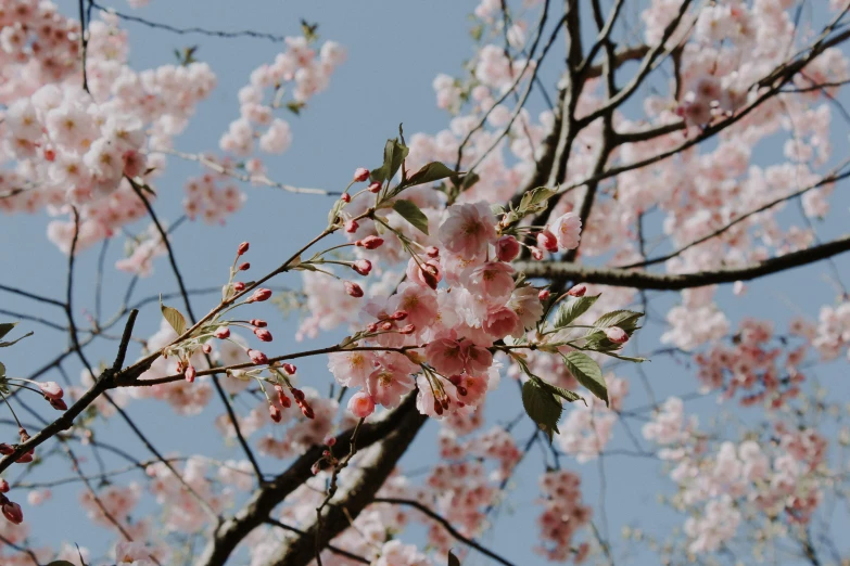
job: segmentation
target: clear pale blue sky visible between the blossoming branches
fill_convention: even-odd
[[[201,5],[203,8],[199,9]],[[405,131],[410,133],[434,133],[446,127],[447,118],[435,106],[431,81],[437,73],[459,74],[461,62],[472,55],[467,14],[474,5],[475,2],[471,1],[205,0],[201,4],[190,0],[153,0],[149,8],[135,13],[176,26],[255,29],[283,35],[297,35],[299,21],[305,18],[319,24],[318,31],[322,39],[342,43],[348,51],[348,61],[333,75],[330,88],[313,99],[302,116],[284,116],[293,130],[292,149],[280,157],[268,159],[269,177],[275,180],[294,185],[339,190],[344,188],[356,167],[375,167],[380,162],[383,142],[395,134],[399,123],[404,123]],[[116,1],[114,7],[129,12],[124,2]],[[248,82],[253,68],[270,62],[279,52],[278,44],[257,39],[176,36],[132,23],[126,24],[126,28],[130,33],[130,64],[135,68],[173,63],[175,49],[198,44],[200,49],[196,57],[208,62],[217,74],[218,88],[199,106],[191,127],[176,141],[178,150],[189,153],[217,147],[220,133],[229,121],[238,116],[239,88]],[[551,67],[545,69],[542,76],[547,85],[554,85],[557,80]],[[540,100],[532,101],[533,112],[542,107]],[[841,132],[846,129],[839,126],[836,130],[833,141],[836,154],[842,157],[840,152],[846,146],[847,137]],[[760,150],[764,164],[776,163],[782,158],[781,146],[779,142],[776,145],[766,144]],[[176,158],[169,162],[167,175],[157,182],[161,197],[156,203],[156,210],[162,219],[173,221],[180,216],[182,182],[187,177],[199,172],[196,164]],[[207,227],[200,222],[187,222],[180,227],[175,239],[175,253],[190,288],[224,283],[232,250],[244,240],[252,244],[250,259],[254,272],[268,271],[280,262],[281,257],[320,230],[331,204],[330,198],[292,195],[268,188],[248,186],[245,190],[249,200],[244,208],[233,216],[225,228]],[[833,203],[834,214],[845,219],[850,200],[842,194],[842,188],[837,189]],[[783,219],[800,224],[800,216],[794,207],[789,207]],[[66,258],[47,241],[47,222],[48,217],[45,214],[2,217],[0,242],[5,244],[0,246],[0,265],[3,266],[0,283],[23,286],[34,293],[49,296],[64,296]],[[132,231],[138,232],[147,223],[134,227]],[[819,234],[823,240],[835,237],[842,233],[842,226],[846,226],[846,222],[819,226]],[[660,227],[650,230],[660,232]],[[122,242],[113,242],[107,250],[107,266],[112,266],[120,254]],[[97,259],[97,247],[78,258],[75,287],[78,319],[81,319],[81,309],[93,309]],[[839,258],[836,263],[845,278],[850,275],[847,260]],[[139,284],[135,295],[137,298],[176,290],[164,258],[156,261],[155,269],[153,276]],[[777,327],[781,329],[783,322],[797,314],[798,310],[814,318],[821,305],[834,303],[835,288],[826,281],[829,276],[832,272],[827,265],[822,262],[809,269],[754,282],[743,297],[733,296],[731,287],[724,287],[719,294],[719,301],[726,309],[733,327],[740,318],[749,316],[774,318],[779,321]],[[104,313],[111,313],[120,303],[129,279],[127,274],[107,268],[103,295]],[[301,281],[291,276],[279,283],[299,286]],[[656,295],[658,294],[654,294]],[[63,323],[62,313],[55,308],[16,297],[10,299],[9,295],[0,297],[2,308],[45,316]],[[214,297],[194,299],[195,311],[205,311],[213,305],[213,300]],[[676,300],[675,294],[654,299],[652,310],[664,313]],[[178,305],[175,303],[175,306]],[[274,311],[266,312],[266,316],[276,335],[275,347],[269,351],[283,352],[326,345],[337,337],[323,335],[316,340],[299,345],[291,338],[297,321],[283,321]],[[158,309],[155,305],[150,305],[139,317],[136,334],[149,336],[158,324]],[[17,347],[3,351],[3,362],[12,375],[25,375],[43,364],[52,352],[64,348],[66,343],[65,335],[45,326],[25,323],[21,327],[34,330],[36,335]],[[639,338],[642,350],[656,348],[663,330],[662,325],[650,323]],[[91,348],[89,357],[97,361],[111,362],[114,348],[114,343],[98,344]],[[138,347],[135,348],[130,351],[130,358],[139,353]],[[302,374],[309,376],[305,377],[305,382],[315,381],[317,389],[326,390],[329,383],[329,374],[325,369],[326,360],[305,360],[300,366]],[[65,368],[76,381],[79,364],[72,360]],[[645,370],[659,399],[696,389],[693,369],[670,359],[652,360]],[[648,397],[633,370],[618,370],[618,375],[632,381],[632,394],[626,407],[639,407],[648,402]],[[848,384],[843,363],[817,369],[816,377],[830,388],[834,395],[847,399]],[[58,376],[54,374],[52,378],[58,380]],[[40,407],[34,397],[27,402]],[[706,424],[718,414],[713,399],[698,401],[689,407],[697,411],[700,421]],[[510,381],[505,380],[500,389],[487,400],[491,422],[508,421],[519,411],[521,404],[517,389]],[[190,421],[175,416],[167,406],[156,401],[135,402],[129,412],[165,453],[203,453],[221,460],[241,458],[238,447],[225,446],[212,426],[213,419],[221,412],[217,398],[211,402],[208,410]],[[45,414],[50,415],[47,411]],[[746,420],[747,415],[743,417]],[[417,443],[405,456],[403,468],[416,469],[432,461],[435,455],[436,430],[434,423],[428,424]],[[531,430],[531,423],[523,422],[519,427],[518,441],[524,442]],[[12,435],[14,429],[5,428],[2,434]],[[101,424],[99,434],[105,441],[124,446],[140,458],[148,458],[143,448],[118,420]],[[648,442],[642,443],[644,448],[649,448]],[[621,426],[617,427],[610,448],[633,448]],[[110,465],[123,465],[109,456],[106,461]],[[483,538],[496,552],[517,564],[537,561],[531,549],[537,537],[534,520],[540,509],[534,505],[534,499],[537,497],[536,478],[541,462],[541,454],[536,450],[523,462],[505,505],[506,512]],[[623,525],[639,526],[648,533],[663,538],[683,519],[657,503],[657,494],[669,493],[672,484],[664,478],[662,467],[655,461],[608,456],[601,461],[604,481],[598,461],[581,465],[570,459],[562,459],[562,464],[582,474],[585,501],[594,505],[595,517],[602,533],[609,533],[616,545],[620,542],[620,529]],[[267,459],[262,460],[262,465],[268,472],[281,467],[280,462]],[[7,477],[14,478],[17,473],[20,471],[13,468],[12,474]],[[64,465],[47,469],[42,467],[34,473],[33,479],[64,477],[68,474],[69,469]],[[129,480],[131,477],[134,475],[128,474],[123,480]],[[136,478],[138,479],[138,476]],[[31,520],[34,530],[38,531],[37,541],[55,546],[61,541],[74,541],[88,546],[97,555],[115,539],[100,527],[77,520],[80,514],[78,493],[76,487],[54,489],[53,500],[45,506],[26,506],[27,519]],[[606,516],[607,520],[604,520],[602,516]],[[835,519],[834,532],[847,528],[848,524],[847,516],[839,515]],[[409,540],[416,541],[419,531],[420,529],[415,529]],[[651,562],[648,556],[644,552],[616,555],[617,564],[639,564],[646,559]],[[465,564],[483,565],[486,562],[473,553]]]

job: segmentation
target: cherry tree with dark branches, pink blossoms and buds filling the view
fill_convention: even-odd
[[[433,79],[445,129],[402,125],[322,189],[269,168],[334,73],[372,62],[321,22],[278,36],[128,4],[0,0],[0,210],[49,216],[65,258],[50,295],[11,262],[0,274],[0,563],[850,564],[850,404],[817,378],[850,357],[850,236],[822,239],[846,226],[849,1],[470,3],[473,55]],[[216,62],[187,48],[137,68],[129,24],[279,52],[192,153],[180,134]],[[183,162],[196,173],[175,179]],[[251,185],[327,222],[259,256],[240,232]],[[176,243],[226,222],[231,246],[192,286]],[[792,298],[820,310],[753,316],[748,282],[797,268]],[[154,271],[173,283],[139,298]],[[46,351],[46,329],[67,346]],[[299,370],[312,359],[327,394]],[[692,393],[656,394],[664,361]],[[489,410],[500,395],[507,413]],[[144,413],[163,403],[190,441],[214,413],[220,447],[164,451]],[[103,440],[118,426],[138,450]],[[414,471],[415,453],[435,455]],[[630,486],[658,509],[617,515],[620,533],[614,458],[663,478]],[[537,540],[497,550],[511,503],[534,506]],[[48,531],[38,505],[110,551]]]

